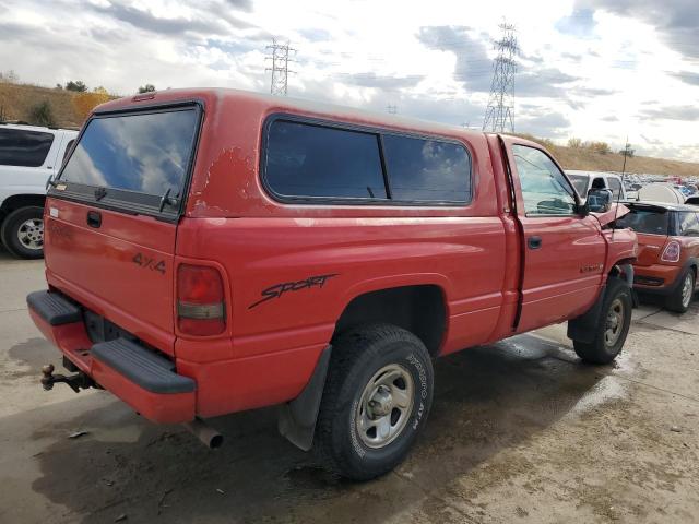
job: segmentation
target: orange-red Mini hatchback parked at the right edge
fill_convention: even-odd
[[[630,213],[617,221],[638,235],[633,287],[665,297],[671,311],[689,308],[699,267],[699,210],[668,203],[626,204]]]

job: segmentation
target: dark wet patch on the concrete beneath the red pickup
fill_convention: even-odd
[[[171,523],[232,514],[240,522],[328,522],[356,515],[357,507],[390,520],[572,409],[618,393],[599,385],[611,379],[605,371],[532,336],[450,355],[435,370],[429,421],[401,475],[365,485],[335,478],[276,433],[271,408],[212,420],[226,443],[210,451],[181,428],[146,424],[115,401],[60,422],[50,417],[32,434],[55,438],[35,457],[42,477],[33,488],[83,522],[120,514],[129,522],[161,514]],[[90,434],[67,439],[74,429]]]

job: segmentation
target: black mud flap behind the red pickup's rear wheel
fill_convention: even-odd
[[[329,345],[320,354],[313,374],[304,391],[280,408],[279,430],[283,437],[297,448],[309,451],[313,445],[313,433],[320,400],[325,388],[325,377],[332,346]]]

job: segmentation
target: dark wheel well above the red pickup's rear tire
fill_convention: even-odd
[[[333,338],[359,324],[387,322],[420,338],[436,356],[447,326],[445,298],[438,286],[381,289],[353,299],[335,324]]]

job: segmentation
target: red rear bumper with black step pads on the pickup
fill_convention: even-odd
[[[171,361],[126,338],[93,344],[80,309],[58,293],[27,297],[29,314],[44,336],[82,372],[155,422],[194,418],[197,383],[175,372]]]

